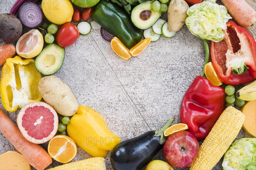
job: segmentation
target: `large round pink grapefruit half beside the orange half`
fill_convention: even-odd
[[[32,143],[49,141],[58,130],[58,115],[45,102],[25,105],[17,116],[17,125],[22,135]]]

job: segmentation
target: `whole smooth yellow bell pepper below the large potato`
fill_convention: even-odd
[[[93,157],[105,157],[120,143],[119,136],[107,127],[104,117],[92,108],[79,106],[67,125],[68,135]]]

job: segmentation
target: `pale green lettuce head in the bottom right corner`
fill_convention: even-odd
[[[223,170],[256,170],[256,138],[242,138],[227,150]]]

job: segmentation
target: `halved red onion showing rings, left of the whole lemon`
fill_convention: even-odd
[[[23,3],[18,11],[20,22],[29,28],[39,26],[44,19],[44,14],[40,6],[33,2]]]

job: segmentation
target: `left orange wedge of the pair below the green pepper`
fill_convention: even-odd
[[[131,53],[127,47],[117,37],[113,37],[110,42],[113,51],[122,59],[128,60],[131,58]]]

